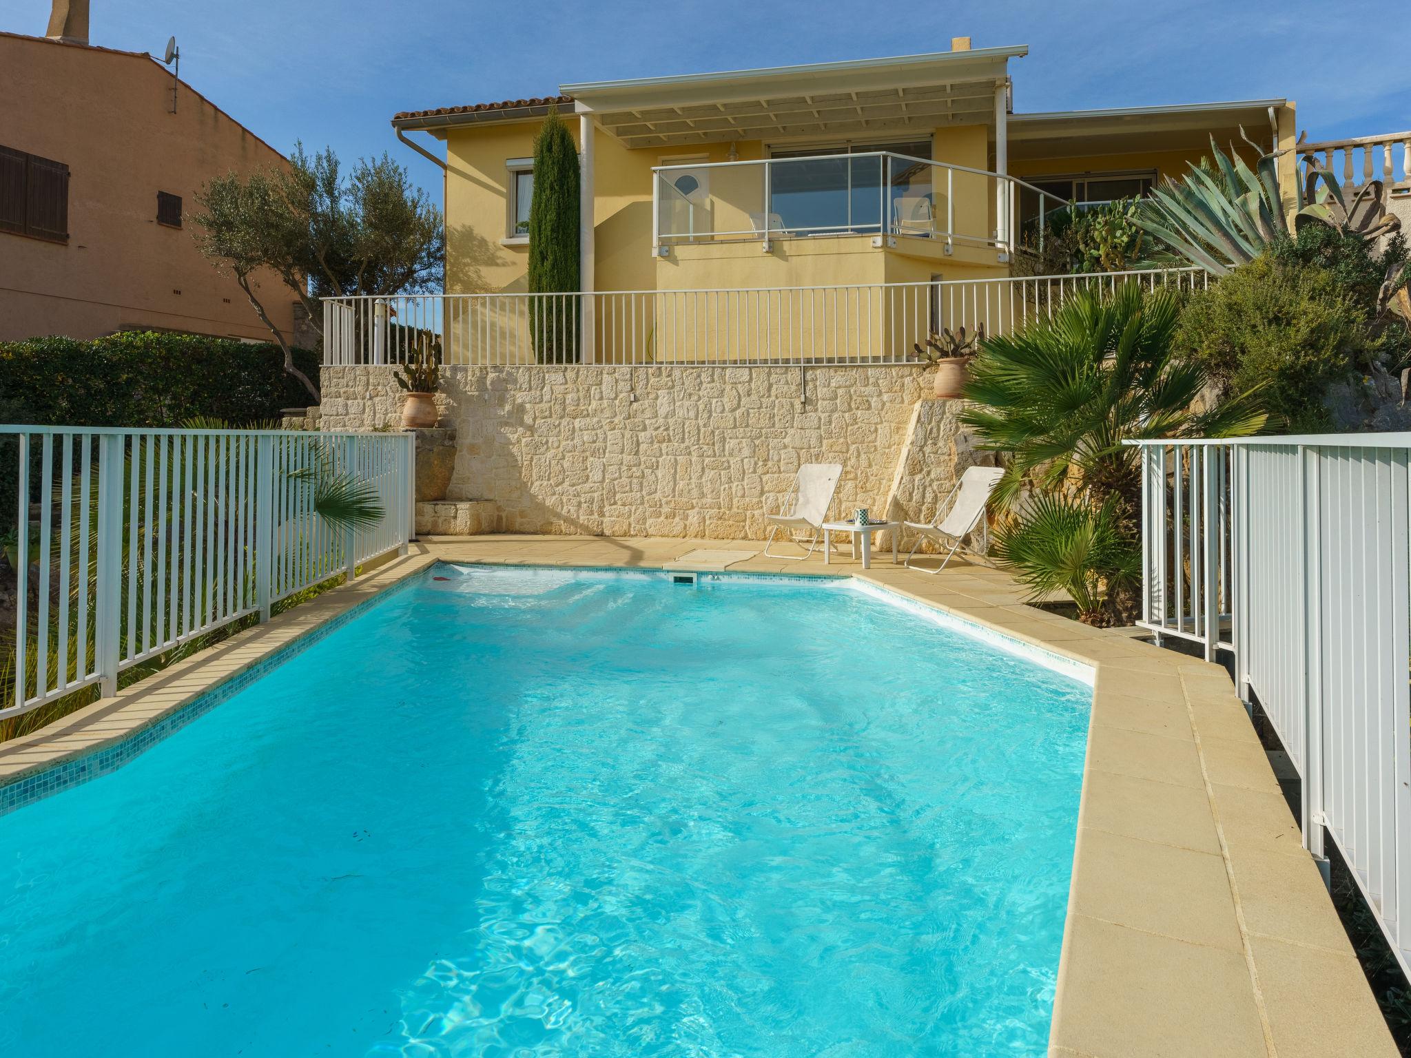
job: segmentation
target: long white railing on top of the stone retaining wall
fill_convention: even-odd
[[[1075,292],[1125,282],[1198,289],[1199,268],[916,284],[323,299],[323,363],[811,367],[916,364],[943,327],[1007,334]]]

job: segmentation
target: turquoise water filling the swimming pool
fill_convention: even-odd
[[[841,585],[435,573],[0,817],[0,1052],[1044,1051],[1088,687]]]

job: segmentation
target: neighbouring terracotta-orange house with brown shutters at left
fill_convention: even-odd
[[[87,4],[52,37],[0,32],[0,341],[172,330],[268,340],[234,279],[196,250],[213,176],[279,164],[270,144],[145,52],[87,42]],[[258,281],[293,337],[293,295]]]

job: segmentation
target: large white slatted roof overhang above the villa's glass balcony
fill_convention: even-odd
[[[872,135],[995,120],[995,89],[1027,47],[563,85],[628,147]]]

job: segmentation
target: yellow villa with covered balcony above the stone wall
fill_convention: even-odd
[[[1002,281],[1033,275],[1023,258],[1054,210],[1141,195],[1212,135],[1250,157],[1242,128],[1294,147],[1285,99],[1016,113],[1010,63],[1027,52],[955,38],[399,113],[398,137],[444,171],[446,293],[467,296],[436,319],[423,300],[333,310],[350,334],[377,332],[358,310],[384,309],[444,333],[447,363],[532,360],[535,313],[573,333],[562,358],[583,363],[879,363],[941,324],[993,333],[1031,310],[1033,291]],[[583,291],[532,299],[533,140],[552,110],[580,152]],[[1292,178],[1292,150],[1283,164]]]

